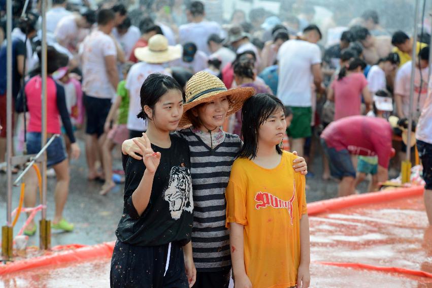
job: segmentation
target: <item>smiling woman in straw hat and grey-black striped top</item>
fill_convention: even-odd
[[[242,141],[221,129],[226,116],[236,113],[254,94],[252,87],[226,89],[208,72],[198,72],[186,83],[183,117],[176,133],[189,144],[194,202],[192,252],[196,267],[194,288],[228,287],[231,269],[229,235],[225,228],[225,188]],[[135,138],[143,142],[143,138]],[[145,142],[145,141],[144,141]],[[122,151],[134,158],[142,155],[132,140]],[[305,171],[297,158],[297,171]]]

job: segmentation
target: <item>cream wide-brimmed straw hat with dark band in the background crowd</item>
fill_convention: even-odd
[[[159,34],[149,39],[147,47],[135,49],[135,57],[151,64],[169,62],[180,58],[181,55],[180,45],[169,46],[167,37]]]

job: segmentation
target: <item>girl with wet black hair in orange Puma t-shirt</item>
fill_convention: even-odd
[[[226,188],[236,287],[309,287],[310,243],[305,176],[283,151],[284,106],[256,94],[242,109],[244,145]]]

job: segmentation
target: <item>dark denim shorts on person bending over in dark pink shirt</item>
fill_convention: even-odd
[[[328,157],[328,164],[330,166],[331,176],[342,179],[344,177],[356,176],[354,166],[351,161],[351,154],[347,149],[337,151],[335,148],[328,147],[325,140],[321,138],[321,145],[324,153]]]

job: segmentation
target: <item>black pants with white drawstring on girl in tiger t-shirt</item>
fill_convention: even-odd
[[[117,241],[111,258],[110,283],[116,288],[188,288],[183,249],[171,244],[143,247]]]

